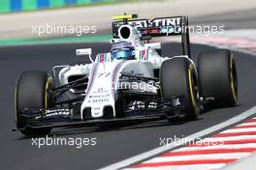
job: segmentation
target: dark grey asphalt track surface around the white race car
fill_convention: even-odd
[[[32,146],[31,138],[12,132],[15,127],[16,78],[21,71],[49,71],[55,65],[86,63],[86,58],[75,56],[75,49],[80,47],[92,47],[94,54],[110,49],[108,43],[0,47],[1,169],[98,169],[159,147],[160,137],[187,136],[237,116],[256,103],[256,57],[234,52],[240,85],[236,107],[211,110],[202,114],[197,121],[186,123],[168,124],[158,121],[111,128],[58,128],[53,129],[52,136],[96,137],[97,145],[83,146],[81,149],[73,146],[45,146],[39,149]],[[193,44],[193,59],[196,61],[201,51],[210,49],[213,47]],[[166,43],[163,45],[163,53],[165,56],[177,55],[180,47],[176,43]]]

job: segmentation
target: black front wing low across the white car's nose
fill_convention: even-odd
[[[149,101],[148,101],[149,102]],[[150,101],[152,102],[152,101]],[[124,123],[144,123],[168,119],[169,121],[182,120],[182,105],[174,105],[173,99],[157,100],[157,106],[148,108],[148,105],[142,106],[142,103],[130,104],[128,107],[134,107],[126,112],[125,118],[112,119],[88,119],[79,120],[73,115],[73,111],[65,108],[24,108],[20,116],[26,120],[26,127],[14,128],[22,130],[25,128],[63,128],[63,127],[89,127],[101,125],[122,125]],[[141,105],[141,106],[140,106]]]

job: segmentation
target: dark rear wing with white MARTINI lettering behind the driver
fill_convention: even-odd
[[[112,37],[118,39],[118,29],[121,25],[136,26],[141,33],[142,41],[154,37],[180,36],[183,55],[191,56],[188,16],[157,17],[153,19],[137,19],[137,14],[113,16]]]

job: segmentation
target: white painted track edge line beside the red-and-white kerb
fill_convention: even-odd
[[[185,141],[189,141],[191,139],[201,138],[201,137],[203,137],[205,135],[208,135],[209,133],[212,133],[214,131],[217,131],[217,130],[220,130],[222,128],[226,128],[226,127],[229,127],[229,126],[234,125],[236,123],[239,123],[240,121],[249,118],[250,116],[254,115],[255,113],[256,113],[256,106],[240,113],[240,115],[238,115],[234,118],[231,118],[231,119],[229,119],[229,120],[227,120],[223,123],[220,123],[218,125],[212,126],[210,128],[204,129],[202,131],[199,131],[197,133],[194,133],[194,134],[191,134],[187,137],[184,137],[182,140],[180,140],[180,141],[183,141],[183,142],[179,142],[179,146],[184,145]],[[130,158],[127,158],[127,159],[121,160],[119,162],[113,163],[109,166],[101,168],[100,170],[115,170],[115,169],[124,168],[124,167],[132,165],[134,163],[140,162],[140,161],[142,161],[142,160],[144,160],[148,157],[156,156],[158,154],[161,154],[161,153],[167,152],[169,150],[175,149],[176,147],[177,147],[176,143],[173,142],[173,143],[169,144],[168,147],[167,146],[161,146],[161,147],[155,148],[153,150],[147,151],[147,152],[145,152],[143,154],[140,154],[138,156],[132,156]]]

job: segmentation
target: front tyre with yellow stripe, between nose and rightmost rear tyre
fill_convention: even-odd
[[[194,65],[184,57],[164,61],[160,70],[161,96],[163,99],[182,97],[184,119],[196,120],[200,114],[198,79]]]

